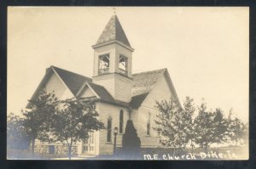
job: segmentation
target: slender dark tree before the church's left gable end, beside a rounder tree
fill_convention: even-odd
[[[34,155],[35,140],[48,139],[50,114],[55,112],[56,97],[54,93],[42,90],[36,99],[28,100],[31,110],[22,110],[24,115],[23,127],[32,144],[32,156]]]

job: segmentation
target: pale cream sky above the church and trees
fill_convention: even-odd
[[[248,121],[247,7],[115,7],[135,48],[132,72],[167,68],[186,96]],[[92,76],[112,7],[8,8],[8,113],[20,115],[50,65]]]

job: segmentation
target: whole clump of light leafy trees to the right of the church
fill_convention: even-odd
[[[183,109],[178,107],[177,101],[172,98],[168,102],[156,102],[156,108],[158,114],[154,130],[160,134],[160,144],[174,147],[174,153],[177,148],[185,148],[189,140],[192,149],[194,142],[206,152],[211,144],[223,144],[228,141],[241,144],[246,141],[247,124],[231,114],[228,119],[225,118],[220,109],[207,110],[205,103],[198,107],[198,115],[193,121],[195,106],[193,99],[189,97],[185,99]]]

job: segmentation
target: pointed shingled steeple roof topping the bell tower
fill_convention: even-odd
[[[123,30],[122,25],[115,14],[108,21],[108,24],[106,25],[104,31],[102,31],[102,35],[96,42],[96,45],[113,41],[122,42],[131,48],[130,42],[125,36],[125,31]]]

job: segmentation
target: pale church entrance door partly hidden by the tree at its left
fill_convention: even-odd
[[[89,132],[89,138],[87,138],[84,141],[83,154],[84,155],[96,155],[95,132]]]

